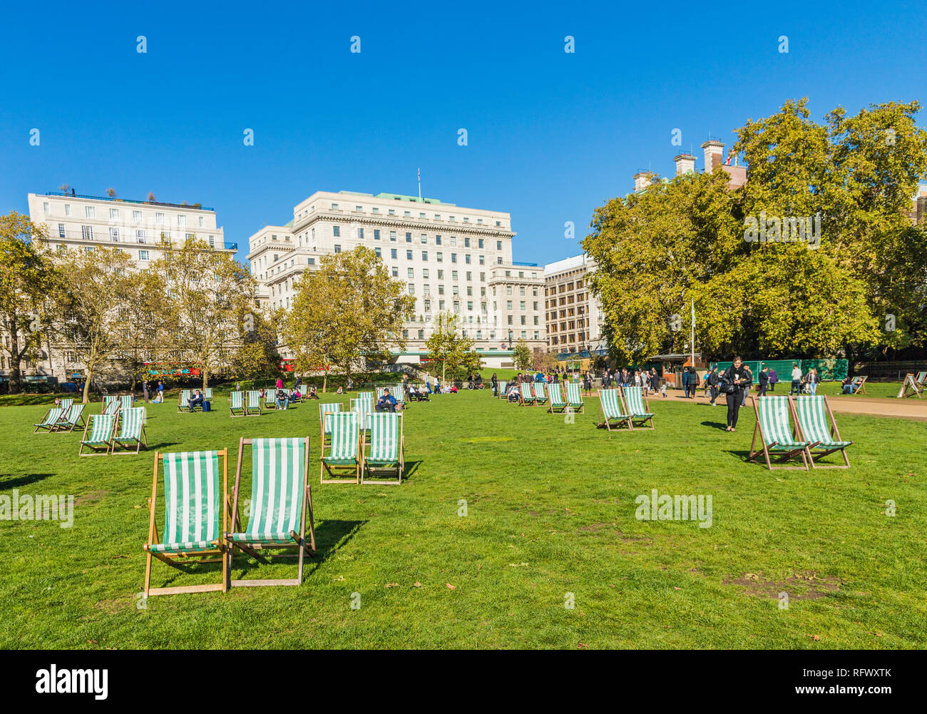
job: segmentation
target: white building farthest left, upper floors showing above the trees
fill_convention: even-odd
[[[174,244],[197,236],[217,250],[238,249],[225,244],[216,211],[199,205],[52,192],[29,194],[29,217],[44,223],[52,249],[119,248],[141,269],[160,257],[162,234]]]

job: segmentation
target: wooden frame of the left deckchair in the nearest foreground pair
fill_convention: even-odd
[[[151,498],[148,499],[148,542],[143,547],[146,552],[145,566],[145,596],[149,595],[179,595],[184,593],[225,593],[228,590],[228,560],[225,558],[224,532],[229,520],[229,462],[228,450],[220,449],[222,458],[222,532],[214,542],[215,548],[197,551],[182,551],[180,553],[159,553],[150,550],[155,541],[160,541],[158,524],[155,523],[155,506],[158,499],[158,466],[164,461],[164,454],[155,452],[155,475],[151,482]],[[171,567],[180,568],[180,563],[222,563],[222,582],[206,583],[203,585],[184,585],[170,588],[152,588],[151,585],[151,558],[158,558],[162,563]],[[212,557],[216,556],[216,557]]]

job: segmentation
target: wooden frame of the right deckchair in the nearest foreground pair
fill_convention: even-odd
[[[268,551],[267,555],[274,557],[296,557],[298,558],[298,574],[296,578],[289,579],[272,579],[272,580],[229,580],[229,587],[232,588],[260,588],[274,585],[301,585],[302,569],[305,555],[313,557],[315,555],[315,526],[312,518],[312,487],[309,483],[309,437],[306,437],[306,450],[303,455],[302,465],[302,514],[299,522],[299,532],[290,531],[291,543],[263,543],[248,541],[233,541],[233,532],[244,532],[241,530],[241,517],[238,515],[238,495],[241,489],[241,463],[245,453],[245,447],[253,443],[253,439],[242,438],[238,441],[238,464],[235,467],[235,490],[233,491],[232,501],[232,529],[225,534],[227,542],[228,577],[232,575],[232,560],[237,548],[242,553],[246,553],[259,562],[266,563],[262,551]],[[309,534],[310,542],[306,542],[306,515],[309,514]],[[280,550],[298,550],[298,553],[273,553],[272,551]]]

